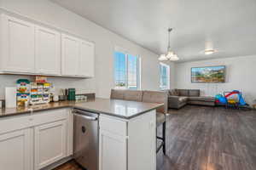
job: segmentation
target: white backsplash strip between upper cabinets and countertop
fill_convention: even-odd
[[[20,78],[34,79],[33,76],[0,75],[0,99],[4,99],[5,87],[16,87],[16,81]],[[96,93],[94,79],[48,77],[47,80],[53,84],[57,93],[61,88],[76,88],[76,94]]]

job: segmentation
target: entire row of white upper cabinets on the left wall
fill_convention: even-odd
[[[6,14],[1,17],[2,73],[94,77],[94,43]]]

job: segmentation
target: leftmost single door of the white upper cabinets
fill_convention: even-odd
[[[2,14],[3,71],[35,71],[34,25]]]

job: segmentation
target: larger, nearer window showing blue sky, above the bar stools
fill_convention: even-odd
[[[139,88],[139,58],[124,52],[114,52],[115,88]]]

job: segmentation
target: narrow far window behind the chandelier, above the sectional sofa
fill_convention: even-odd
[[[160,63],[160,88],[170,88],[170,66]]]

